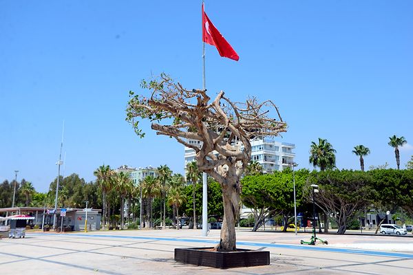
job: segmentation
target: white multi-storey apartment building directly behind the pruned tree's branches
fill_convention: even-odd
[[[189,140],[190,144],[202,146],[199,140]],[[251,140],[251,160],[258,162],[264,168],[264,173],[273,173],[283,170],[294,162],[295,144],[277,142],[269,137],[255,137]],[[241,146],[243,149],[243,146]],[[188,162],[195,160],[195,150],[185,146],[185,167]]]

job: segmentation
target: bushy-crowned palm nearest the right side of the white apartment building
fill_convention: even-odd
[[[318,166],[321,171],[335,168],[335,153],[330,142],[319,137],[319,144],[311,142],[310,164]]]

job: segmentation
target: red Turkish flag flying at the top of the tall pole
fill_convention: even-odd
[[[202,3],[202,40],[217,48],[220,56],[231,58],[235,61],[240,60],[240,56],[234,51],[233,47],[224,39],[224,36],[215,28],[211,20],[204,12],[204,3]]]

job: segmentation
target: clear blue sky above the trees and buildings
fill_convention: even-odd
[[[310,168],[318,137],[337,167],[396,167],[391,135],[413,155],[412,1],[206,1],[205,10],[240,61],[206,45],[207,89],[235,101],[271,99],[288,123],[277,138],[296,144]],[[167,164],[183,173],[182,145],[125,122],[129,90],[161,72],[202,87],[201,1],[0,0],[0,182],[57,175],[63,120],[64,173],[87,181],[112,168]],[[63,170],[63,168],[62,168]]]

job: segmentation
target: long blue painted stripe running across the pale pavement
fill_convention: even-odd
[[[47,233],[32,233],[33,235],[44,235]],[[31,235],[32,235],[31,234]],[[71,236],[70,234],[47,234],[49,236]],[[73,234],[72,236],[89,236],[96,238],[117,238],[117,239],[142,239],[142,240],[153,240],[153,241],[180,241],[180,242],[191,242],[191,243],[218,243],[218,241],[209,241],[204,239],[180,239],[180,238],[160,238],[152,236],[117,236],[117,235],[100,235],[100,234]],[[413,259],[413,254],[398,253],[398,252],[385,252],[385,251],[373,251],[373,250],[356,250],[348,248],[328,248],[326,246],[314,246],[314,245],[288,245],[284,243],[251,243],[244,241],[237,241],[237,245],[250,245],[250,246],[260,246],[267,248],[286,248],[293,250],[313,250],[313,251],[324,251],[324,252],[337,252],[337,253],[348,253],[348,254],[363,254],[371,256],[385,256],[394,257],[401,259]]]

